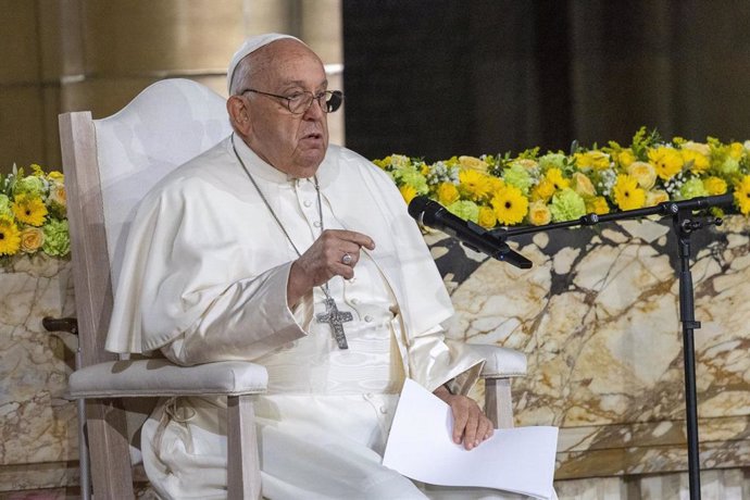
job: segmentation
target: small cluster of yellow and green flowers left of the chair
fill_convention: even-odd
[[[64,258],[71,251],[63,174],[46,174],[39,165],[32,173],[13,165],[0,175],[0,262],[16,254],[45,253]]]

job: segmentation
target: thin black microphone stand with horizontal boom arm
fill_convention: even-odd
[[[690,500],[700,500],[700,461],[698,440],[698,404],[696,397],[696,352],[693,330],[700,328],[696,321],[693,302],[692,274],[690,273],[690,235],[708,226],[721,226],[720,217],[693,216],[693,211],[711,207],[732,204],[732,195],[700,197],[684,201],[667,201],[655,207],[603,215],[587,214],[574,221],[565,221],[545,226],[525,226],[513,229],[492,229],[491,234],[501,240],[518,235],[546,232],[572,226],[593,226],[602,222],[641,218],[649,215],[672,216],[672,227],[677,234],[679,257],[679,317],[683,325],[683,358],[685,370],[685,409],[688,438],[688,475]]]

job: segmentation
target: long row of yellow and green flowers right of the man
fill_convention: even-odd
[[[664,141],[640,128],[629,146],[572,152],[539,148],[518,155],[453,157],[428,164],[392,154],[374,163],[393,179],[407,203],[428,196],[486,228],[573,221],[587,213],[653,207],[664,201],[734,192],[750,214],[750,141]]]

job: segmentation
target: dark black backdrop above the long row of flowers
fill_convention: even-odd
[[[343,0],[343,47],[367,158],[750,139],[747,0]]]

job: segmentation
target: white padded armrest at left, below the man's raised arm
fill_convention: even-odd
[[[109,361],[76,370],[68,399],[240,396],[265,392],[268,373],[247,361],[179,366],[167,360]]]

